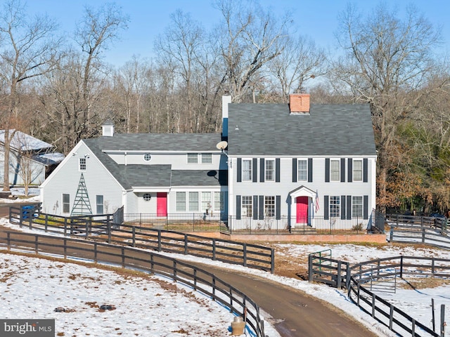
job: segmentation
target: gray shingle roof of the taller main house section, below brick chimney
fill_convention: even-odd
[[[238,126],[238,130],[236,130]],[[233,156],[376,155],[368,104],[230,104],[228,153]]]

